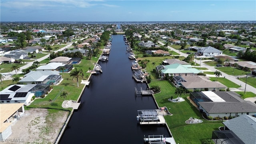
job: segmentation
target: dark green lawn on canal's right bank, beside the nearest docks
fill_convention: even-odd
[[[202,114],[194,107],[186,98],[189,94],[182,94],[184,102],[173,103],[168,101],[168,98],[177,98],[174,94],[174,85],[167,80],[152,80],[150,86],[158,85],[161,92],[154,94],[158,106],[166,106],[173,116],[165,116],[165,120],[172,132],[176,143],[180,144],[200,144],[204,139],[212,137],[212,131],[218,130],[218,127],[223,126],[221,121],[210,122],[202,118]],[[170,109],[169,109],[170,108]],[[201,124],[186,124],[185,121],[190,117],[195,117],[203,120]]]

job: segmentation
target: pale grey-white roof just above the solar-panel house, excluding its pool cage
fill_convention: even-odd
[[[19,82],[42,82],[50,75],[58,75],[58,71],[33,71],[25,74]]]

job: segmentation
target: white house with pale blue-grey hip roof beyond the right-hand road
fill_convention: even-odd
[[[218,55],[222,55],[222,51],[218,50],[214,47],[211,46],[207,46],[207,47],[202,47],[202,48],[198,48],[198,54],[202,55],[202,56],[218,56]]]

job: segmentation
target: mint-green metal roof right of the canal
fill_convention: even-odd
[[[189,65],[170,64],[165,66],[165,69],[161,70],[161,72],[164,74],[182,74],[182,73],[198,74],[200,73],[200,70],[196,68],[188,68],[189,66],[192,67],[190,64]]]

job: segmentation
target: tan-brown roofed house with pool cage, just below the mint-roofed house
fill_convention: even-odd
[[[219,91],[226,90],[227,86],[220,82],[212,82],[206,76],[174,76],[174,83],[177,86],[183,86],[187,90],[202,90],[202,91]]]

